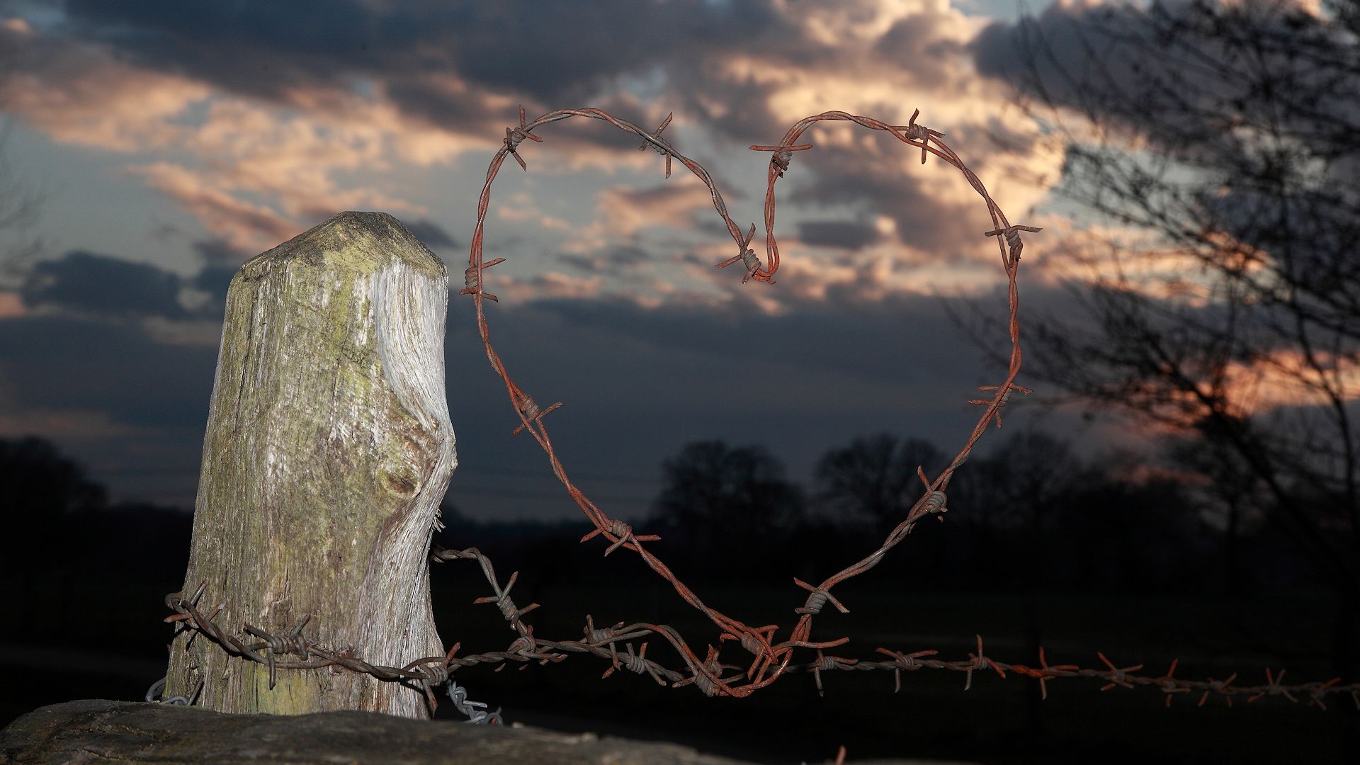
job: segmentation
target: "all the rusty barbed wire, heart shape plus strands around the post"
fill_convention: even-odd
[[[919,112],[913,113],[907,125],[889,125],[869,117],[860,117],[845,112],[826,112],[806,117],[794,124],[785,133],[783,139],[775,146],[752,146],[752,150],[771,152],[764,206],[766,263],[762,263],[755,252],[749,249],[749,244],[755,235],[755,225],[752,225],[751,229],[743,234],[740,227],[728,215],[722,195],[713,184],[709,173],[698,162],[684,157],[661,137],[661,132],[670,123],[669,116],[660,128],[653,132],[647,132],[627,120],[620,120],[600,109],[562,109],[549,112],[529,123],[525,118],[524,108],[521,108],[518,127],[506,128],[503,146],[495,154],[487,170],[486,184],[483,185],[477,201],[477,221],[472,237],[469,265],[465,271],[465,289],[462,289],[460,294],[472,295],[476,309],[477,331],[483,340],[487,358],[491,362],[492,369],[505,382],[511,407],[520,419],[520,425],[513,430],[511,436],[528,432],[534,438],[547,455],[554,476],[562,482],[562,485],[567,489],[568,495],[577,502],[593,524],[594,528],[581,538],[582,543],[600,536],[607,543],[604,550],[605,555],[609,555],[620,549],[630,550],[631,553],[639,555],[653,572],[660,574],[672,585],[683,600],[702,613],[718,628],[719,634],[715,641],[717,648],[713,644],[709,644],[703,659],[699,657],[698,652],[691,648],[691,645],[676,629],[666,625],[653,625],[646,622],[628,625],[617,622],[608,628],[597,628],[593,618],[586,615],[582,638],[560,641],[540,638],[534,636],[533,628],[524,621],[524,617],[537,608],[539,604],[530,603],[529,606],[521,608],[511,598],[511,589],[518,581],[518,572],[513,573],[502,585],[495,574],[495,568],[491,561],[476,547],[465,550],[445,550],[435,547],[431,550],[431,558],[437,562],[469,559],[479,564],[483,574],[491,585],[492,593],[484,598],[477,598],[475,603],[496,606],[502,618],[515,633],[515,638],[505,651],[488,651],[475,655],[457,656],[461,644],[456,642],[443,656],[420,657],[403,667],[373,664],[355,656],[350,649],[335,649],[307,640],[302,633],[310,619],[310,615],[303,617],[301,622],[282,634],[271,633],[258,626],[246,623],[243,625],[246,636],[235,636],[224,632],[215,622],[216,617],[224,608],[224,604],[216,606],[208,614],[199,610],[197,602],[204,593],[205,583],[199,587],[197,592],[194,592],[192,598],[188,599],[180,592],[167,595],[166,604],[175,611],[175,614],[169,617],[166,621],[177,622],[182,625],[184,629],[193,630],[194,636],[208,636],[209,640],[219,644],[231,655],[267,664],[269,668],[271,687],[275,683],[275,674],[279,668],[314,670],[333,666],[354,672],[367,674],[384,682],[407,683],[424,694],[431,713],[438,706],[432,689],[449,686],[449,696],[454,700],[454,704],[458,705],[460,712],[473,719],[480,715],[483,721],[491,721],[492,717],[499,720],[499,716],[495,713],[487,713],[484,705],[479,702],[466,701],[465,689],[453,683],[452,672],[462,667],[477,664],[496,664],[496,671],[503,670],[511,663],[518,664],[521,668],[528,666],[530,662],[537,662],[545,666],[562,662],[573,653],[589,653],[607,660],[609,667],[602,674],[605,678],[619,670],[627,670],[638,675],[649,675],[658,685],[669,685],[670,687],[695,685],[706,696],[745,697],[759,689],[767,687],[786,672],[813,674],[815,683],[820,691],[821,672],[872,670],[892,670],[895,678],[894,687],[895,690],[900,690],[903,671],[934,668],[964,672],[966,689],[972,685],[972,672],[979,670],[993,670],[1001,678],[1005,678],[1008,672],[1030,677],[1039,681],[1044,697],[1047,696],[1049,681],[1059,678],[1088,678],[1103,681],[1104,685],[1102,686],[1102,690],[1110,690],[1114,687],[1133,689],[1138,686],[1153,686],[1167,693],[1168,704],[1172,694],[1198,691],[1201,693],[1200,704],[1204,704],[1212,694],[1217,694],[1227,698],[1231,705],[1234,697],[1247,694],[1248,701],[1255,701],[1257,698],[1265,696],[1282,696],[1284,698],[1295,702],[1299,698],[1307,698],[1310,704],[1325,708],[1325,700],[1329,696],[1350,693],[1357,708],[1360,708],[1360,683],[1340,685],[1338,678],[1329,682],[1310,682],[1284,686],[1281,682],[1284,672],[1281,671],[1280,675],[1272,675],[1268,670],[1266,685],[1239,686],[1234,685],[1236,674],[1223,681],[1212,678],[1205,681],[1186,681],[1175,678],[1175,662],[1166,675],[1141,675],[1138,674],[1142,668],[1141,664],[1115,667],[1114,663],[1106,659],[1103,653],[1098,655],[1106,664],[1104,670],[1083,668],[1077,664],[1050,666],[1047,664],[1042,649],[1039,651],[1039,666],[1030,667],[1025,664],[1004,663],[986,656],[983,653],[981,637],[978,637],[976,653],[970,653],[967,660],[960,659],[947,662],[934,659],[933,656],[937,655],[937,651],[933,649],[903,653],[888,648],[874,649],[877,653],[888,656],[888,659],[853,659],[830,656],[826,653],[830,648],[847,644],[850,641],[849,637],[839,637],[827,641],[811,640],[813,619],[828,603],[842,613],[849,611],[849,608],[835,595],[832,595],[831,591],[835,585],[851,577],[860,576],[876,566],[884,555],[887,555],[891,549],[896,547],[911,532],[915,524],[925,517],[936,516],[941,520],[944,519],[944,513],[948,512],[945,491],[955,471],[957,471],[959,467],[967,461],[974,445],[986,432],[993,419],[998,427],[1001,426],[1001,408],[1009,403],[1012,393],[1015,391],[1020,391],[1023,395],[1031,392],[1028,388],[1016,384],[1016,377],[1020,372],[1023,358],[1019,342],[1019,287],[1016,278],[1019,272],[1020,255],[1024,246],[1020,233],[1038,231],[1039,229],[1012,225],[997,203],[987,195],[981,180],[978,180],[978,177],[968,170],[953,150],[940,140],[944,133],[917,124],[915,118],[918,114]],[[898,140],[921,148],[922,162],[926,161],[928,155],[938,157],[940,159],[957,167],[987,206],[993,229],[985,231],[985,235],[997,237],[997,245],[1001,252],[1001,263],[1008,280],[1006,306],[1009,312],[1008,333],[1010,342],[1010,355],[1006,376],[997,385],[983,385],[979,388],[982,392],[991,393],[990,397],[968,400],[970,404],[982,406],[985,408],[972,426],[964,445],[959,449],[951,463],[934,479],[928,478],[922,468],[917,468],[917,475],[923,487],[922,494],[913,504],[906,517],[887,535],[884,542],[876,550],[817,584],[809,584],[800,579],[793,580],[794,584],[798,588],[805,589],[808,595],[804,598],[802,604],[794,608],[797,619],[785,640],[777,640],[777,636],[782,629],[779,625],[751,626],[741,619],[730,617],[706,604],[680,580],[680,577],[672,572],[665,562],[661,561],[661,558],[647,549],[646,543],[657,540],[658,536],[636,534],[631,525],[619,519],[611,517],[600,509],[570,481],[566,467],[552,446],[548,429],[544,423],[544,417],[563,406],[562,402],[556,402],[545,408],[541,408],[532,396],[525,393],[514,382],[491,343],[490,327],[484,312],[484,299],[495,302],[496,297],[484,290],[483,272],[487,268],[505,261],[503,257],[496,257],[490,261],[483,259],[484,222],[490,206],[491,184],[503,165],[506,155],[514,157],[520,166],[528,170],[528,163],[518,154],[520,144],[525,139],[540,143],[543,142],[543,137],[534,135],[532,131],[545,124],[566,120],[574,116],[602,120],[620,129],[641,136],[643,140],[641,148],[650,146],[665,157],[666,177],[670,174],[672,159],[679,161],[690,169],[691,173],[694,173],[710,191],[714,210],[717,210],[718,215],[722,216],[729,234],[738,245],[738,255],[718,263],[717,267],[725,268],[740,260],[745,267],[745,276],[743,278],[743,282],[751,279],[768,283],[774,282],[774,275],[779,268],[779,250],[774,235],[775,181],[783,177],[783,173],[787,172],[793,152],[813,148],[811,143],[800,144],[797,140],[808,128],[820,121],[850,121],[869,129],[888,132]],[[189,640],[194,636],[190,636]],[[649,657],[649,640],[660,640],[668,644],[684,664],[683,671],[662,666],[656,660],[656,655]],[[751,659],[744,664],[722,662],[719,655],[722,652],[722,647],[728,642],[740,645],[741,649],[749,653]],[[816,651],[816,660],[794,663],[793,656],[797,649]],[[287,659],[287,656],[298,656],[299,660]],[[154,687],[152,690],[156,689]],[[159,690],[156,691],[159,693]],[[199,691],[196,691],[196,694]],[[148,697],[154,697],[154,694],[148,691]]]

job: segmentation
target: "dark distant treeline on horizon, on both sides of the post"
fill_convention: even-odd
[[[662,490],[638,530],[661,535],[653,549],[685,581],[824,577],[874,550],[906,516],[922,491],[918,466],[933,476],[945,463],[925,441],[870,436],[830,449],[802,487],[762,446],[694,442],[665,460]],[[974,456],[949,486],[945,520],[919,524],[866,579],[1185,592],[1314,583],[1307,561],[1268,532],[1268,513],[1228,517],[1208,489],[1193,472],[1151,471],[1132,457],[1088,460],[1062,440],[1020,432]],[[42,572],[166,591],[184,577],[186,508],[113,504],[41,438],[0,440],[0,572],[11,587]],[[522,581],[619,570],[613,557],[601,566],[600,544],[578,544],[583,520],[475,521],[447,502],[443,517],[437,543],[477,546],[506,573],[522,570]]]

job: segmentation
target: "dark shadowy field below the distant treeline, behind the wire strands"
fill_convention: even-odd
[[[492,544],[483,544],[483,551],[496,561],[502,581],[515,568],[525,570],[514,595],[521,606],[543,603],[526,618],[540,637],[577,638],[586,614],[597,625],[669,623],[699,649],[717,637],[664,583],[653,584],[635,559],[600,559],[597,550],[571,554],[575,570],[563,581],[536,566],[532,550],[498,557]],[[99,561],[82,559],[79,549],[69,554],[73,564],[67,573],[19,576],[0,592],[7,615],[0,628],[3,721],[57,701],[141,698],[165,671],[170,626],[160,622],[167,613],[162,598],[180,583],[169,573],[116,576],[106,555],[95,554],[103,564],[91,565]],[[156,568],[169,572],[174,565]],[[974,634],[982,634],[989,656],[1034,664],[1027,634],[1039,634],[1050,663],[1103,667],[1099,649],[1118,666],[1141,662],[1157,675],[1179,657],[1176,677],[1185,678],[1239,672],[1239,685],[1255,685],[1265,681],[1266,667],[1285,667],[1296,682],[1331,677],[1326,657],[1334,604],[1321,595],[1035,595],[1015,591],[1013,583],[948,591],[947,583],[883,569],[838,588],[850,614],[827,608],[819,617],[813,638],[853,638],[828,653],[877,657],[877,647],[934,648],[942,659],[967,659],[975,649]],[[471,603],[488,592],[473,564],[435,565],[431,579],[445,642],[461,641],[464,655],[510,642],[514,636],[495,607]],[[766,584],[713,583],[695,589],[748,623],[787,625],[804,598],[783,581],[779,576]],[[725,656],[737,653],[728,647]],[[679,666],[660,642],[649,656]],[[847,746],[851,761],[1341,762],[1341,727],[1355,720],[1281,698],[1255,704],[1239,698],[1229,709],[1221,698],[1197,706],[1198,696],[1180,694],[1168,709],[1157,690],[1102,693],[1099,681],[1078,678],[1051,681],[1049,700],[1040,704],[1030,681],[1001,679],[991,671],[975,674],[967,691],[962,672],[918,670],[903,675],[896,694],[892,674],[874,671],[824,674],[826,697],[817,696],[812,677],[789,675],[752,698],[704,698],[694,687],[658,687],[628,672],[601,679],[607,667],[594,657],[573,656],[549,667],[468,668],[457,678],[472,698],[502,706],[510,721],[675,740],[762,762],[817,762],[834,757],[839,745]],[[456,712],[445,704],[439,716],[456,719]]]

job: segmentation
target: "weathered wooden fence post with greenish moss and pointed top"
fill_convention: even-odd
[[[216,623],[371,663],[442,653],[428,546],[457,464],[445,400],[447,271],[382,212],[341,212],[246,261],[227,293],[185,598]],[[294,657],[296,659],[296,657]],[[222,712],[427,716],[420,691],[279,671],[175,638],[166,696]]]

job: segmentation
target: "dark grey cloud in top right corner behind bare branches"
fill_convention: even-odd
[[[1243,101],[1261,98],[1262,72],[1304,94],[1333,91],[1316,83],[1325,67],[1297,53],[1325,50],[1318,42],[1341,34],[1293,0],[1171,0],[1148,8],[1053,3],[1039,16],[989,25],[968,49],[979,75],[1008,82],[1024,97],[1080,108],[1183,151],[1235,127],[1225,120]],[[1355,93],[1353,86],[1341,90]],[[1348,98],[1307,109],[1334,110],[1337,102],[1350,109]],[[1291,114],[1276,118],[1292,121]],[[1205,157],[1212,161],[1212,151]]]

